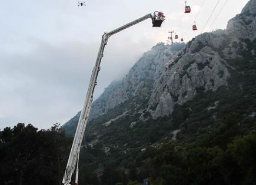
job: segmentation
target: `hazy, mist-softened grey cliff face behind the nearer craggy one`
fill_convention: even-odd
[[[166,46],[159,43],[151,51],[144,53],[142,58],[129,70],[125,78],[111,83],[104,93],[95,100],[92,105],[91,119],[107,113],[134,96],[148,99],[151,96],[152,89],[155,88],[154,82],[164,71],[165,64],[175,58],[177,51],[183,47],[184,44],[182,43],[175,46]]]

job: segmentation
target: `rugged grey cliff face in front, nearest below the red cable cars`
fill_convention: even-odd
[[[228,66],[217,51],[226,40],[226,35],[205,33],[168,63],[148,103],[147,111],[154,119],[169,116],[176,103],[182,105],[191,100],[199,90],[217,90],[227,85]]]

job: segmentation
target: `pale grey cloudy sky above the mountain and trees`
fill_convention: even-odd
[[[165,42],[168,31],[189,41],[202,32],[218,1],[204,31],[224,29],[248,0],[228,1],[215,22],[226,0],[205,0],[201,9],[203,0],[187,1],[188,15],[179,0],[87,0],[84,7],[74,0],[0,0],[0,129],[19,122],[46,129],[74,116],[84,102],[105,31],[158,10],[167,17],[162,28],[151,28],[147,20],[109,39],[95,97],[121,79],[142,53]],[[196,16],[199,30],[192,32]]]

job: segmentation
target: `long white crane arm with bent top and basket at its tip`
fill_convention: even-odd
[[[87,96],[85,98],[84,107],[82,109],[82,112],[81,112],[81,115],[79,118],[77,131],[75,132],[74,141],[72,144],[71,152],[69,154],[64,178],[62,181],[62,183],[64,183],[65,185],[68,185],[71,183],[72,174],[75,171],[75,165],[76,165],[76,163],[78,163],[78,156],[79,156],[79,152],[80,152],[80,148],[81,148],[81,143],[82,143],[82,139],[84,137],[85,127],[87,125],[89,113],[90,113],[91,106],[92,106],[93,93],[94,93],[95,86],[97,85],[97,77],[98,77],[98,73],[99,73],[99,69],[100,69],[101,59],[103,57],[105,45],[107,45],[107,42],[108,42],[108,38],[110,36],[114,35],[115,33],[121,32],[122,30],[127,29],[133,25],[136,25],[137,23],[142,22],[149,18],[152,19],[153,27],[160,27],[161,23],[164,21],[164,14],[162,14],[162,12],[154,12],[154,15],[148,14],[148,15],[142,16],[141,18],[139,18],[135,21],[127,23],[124,26],[121,26],[117,29],[114,29],[111,32],[104,33],[102,35],[101,45],[99,47],[99,52],[98,52],[98,57],[97,57],[94,69],[92,70],[92,75],[91,75],[91,79],[89,82]],[[77,166],[78,166],[78,164],[77,164]],[[75,181],[76,184],[77,184],[77,179],[78,179],[78,167],[77,167],[77,177],[76,177],[76,181]]]

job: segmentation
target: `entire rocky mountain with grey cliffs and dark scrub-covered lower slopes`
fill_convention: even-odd
[[[124,79],[95,100],[81,168],[105,180],[114,167],[137,174],[130,179],[150,176],[161,182],[155,184],[255,183],[255,176],[250,176],[255,166],[244,167],[255,161],[241,166],[245,162],[227,157],[240,147],[232,146],[235,138],[255,132],[255,18],[256,0],[251,0],[225,30],[203,33],[185,47],[160,43],[145,53]],[[68,134],[74,134],[78,117],[79,113],[63,126]],[[237,169],[228,169],[227,163]],[[225,165],[228,168],[222,169]]]

